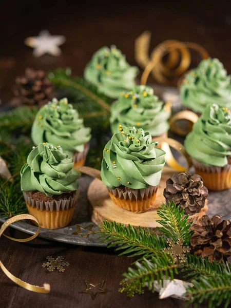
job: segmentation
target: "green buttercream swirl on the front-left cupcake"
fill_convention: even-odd
[[[27,163],[21,169],[21,189],[38,190],[48,197],[75,191],[79,187],[80,175],[73,165],[62,148],[40,143],[30,152]]]

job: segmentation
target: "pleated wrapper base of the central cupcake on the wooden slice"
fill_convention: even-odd
[[[150,208],[155,208],[157,187],[149,186],[144,189],[114,188],[109,189],[109,196],[117,206],[133,213],[143,213]]]

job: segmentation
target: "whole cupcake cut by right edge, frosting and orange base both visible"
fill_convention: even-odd
[[[208,189],[231,188],[231,117],[226,107],[207,106],[186,137],[185,148]]]

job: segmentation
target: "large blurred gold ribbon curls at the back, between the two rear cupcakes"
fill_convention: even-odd
[[[208,52],[200,45],[191,42],[167,40],[159,44],[148,56],[151,33],[145,31],[135,42],[135,58],[145,70],[141,77],[141,84],[146,85],[150,72],[162,84],[171,84],[169,78],[180,76],[186,72],[191,64],[189,49],[197,51],[202,59],[209,57]],[[164,62],[164,56],[167,60]]]

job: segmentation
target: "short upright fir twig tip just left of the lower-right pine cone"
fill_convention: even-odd
[[[184,209],[176,206],[174,202],[163,203],[159,207],[157,214],[162,218],[157,220],[163,227],[157,227],[168,239],[172,239],[175,243],[182,240],[184,245],[189,245],[191,235],[190,230],[192,222],[188,223],[188,215],[184,217]]]

